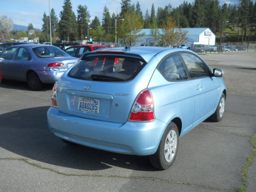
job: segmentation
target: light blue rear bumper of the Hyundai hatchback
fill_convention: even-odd
[[[47,121],[50,131],[64,140],[138,156],[156,152],[166,127],[166,124],[159,120],[125,124],[90,120],[61,113],[56,108],[47,111]]]

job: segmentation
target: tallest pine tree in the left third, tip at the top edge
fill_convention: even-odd
[[[76,15],[72,12],[70,0],[65,0],[63,11],[60,12],[59,30],[61,39],[66,39],[67,42],[75,40],[77,35],[77,20]]]

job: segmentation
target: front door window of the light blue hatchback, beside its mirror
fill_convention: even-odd
[[[181,56],[188,68],[189,76],[194,79],[198,77],[207,77],[211,74],[209,67],[204,61],[190,53],[181,53]]]

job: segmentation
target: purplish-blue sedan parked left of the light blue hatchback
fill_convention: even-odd
[[[0,54],[0,70],[3,79],[26,81],[31,90],[40,90],[43,83],[58,81],[77,60],[52,45],[13,45]]]

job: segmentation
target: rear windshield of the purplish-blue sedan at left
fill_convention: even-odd
[[[53,57],[62,57],[62,56],[70,56],[66,52],[62,51],[58,47],[54,46],[42,46],[42,47],[34,47],[33,52],[38,58],[53,58]]]

